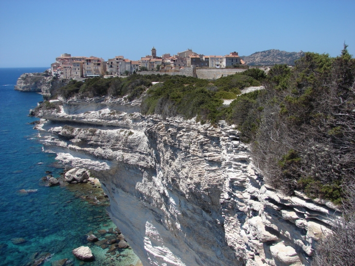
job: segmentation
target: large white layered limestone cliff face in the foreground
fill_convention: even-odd
[[[139,104],[71,100],[37,112],[37,128],[100,179],[143,265],[310,265],[335,206],[265,185],[233,126],[143,117]]]

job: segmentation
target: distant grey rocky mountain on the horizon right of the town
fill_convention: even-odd
[[[301,52],[285,52],[280,50],[267,50],[256,52],[248,56],[240,56],[249,66],[269,66],[275,64],[294,65],[295,60],[301,58],[304,53]]]

